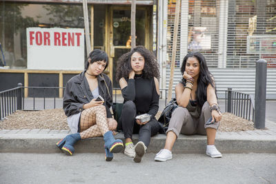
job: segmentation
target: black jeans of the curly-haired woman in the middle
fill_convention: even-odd
[[[136,114],[136,107],[133,101],[124,103],[120,123],[125,139],[132,139],[132,134],[139,133],[139,141],[142,141],[148,147],[150,144],[150,136],[155,136],[158,132],[161,132],[162,127],[155,118],[148,121],[146,125],[138,125],[135,120]]]

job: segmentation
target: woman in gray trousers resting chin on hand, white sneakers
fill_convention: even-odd
[[[214,143],[221,112],[217,105],[215,81],[204,56],[199,52],[187,54],[181,65],[181,74],[183,78],[175,86],[179,107],[172,112],[165,147],[156,154],[155,161],[172,159],[172,146],[180,133],[207,134],[206,154],[219,158],[221,153]]]

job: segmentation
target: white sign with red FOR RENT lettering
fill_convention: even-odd
[[[27,28],[28,69],[83,70],[83,29]]]

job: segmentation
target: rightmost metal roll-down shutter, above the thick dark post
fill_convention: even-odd
[[[272,66],[276,63],[276,55],[247,54],[246,38],[248,35],[276,34],[276,1],[228,1],[227,68],[255,68],[260,57]]]

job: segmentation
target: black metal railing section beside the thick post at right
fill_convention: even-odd
[[[225,92],[225,109],[226,112],[235,114],[236,116],[252,120],[254,122],[254,97],[251,94],[242,92],[234,92],[228,88]]]

